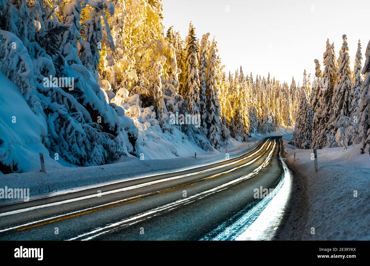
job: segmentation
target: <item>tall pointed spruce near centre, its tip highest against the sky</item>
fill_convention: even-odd
[[[195,28],[190,22],[189,34],[185,39],[186,43],[186,60],[185,60],[185,81],[182,90],[185,100],[189,104],[189,114],[200,114],[200,97],[199,97],[199,76],[198,76],[198,49],[196,45]]]

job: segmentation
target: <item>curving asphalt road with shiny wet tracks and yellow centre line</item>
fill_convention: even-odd
[[[261,202],[253,190],[284,177],[280,138],[223,162],[2,204],[0,240],[235,239]]]

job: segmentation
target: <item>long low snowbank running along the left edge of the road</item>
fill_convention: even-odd
[[[94,184],[109,183],[121,179],[186,169],[225,160],[226,148],[228,149],[229,157],[233,158],[253,149],[265,137],[281,136],[290,133],[289,129],[280,127],[276,132],[270,134],[253,134],[248,142],[237,142],[231,139],[228,146],[221,149],[218,153],[201,156],[197,153],[196,158],[194,156],[188,156],[162,160],[139,160],[135,157],[127,158],[124,162],[102,166],[62,166],[53,170],[46,169],[47,173],[34,171],[5,174],[0,178],[0,187],[29,188],[30,195],[36,196],[81,186],[92,186]],[[0,202],[2,200],[4,199],[0,199]]]

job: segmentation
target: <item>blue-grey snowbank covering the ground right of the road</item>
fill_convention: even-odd
[[[299,196],[280,239],[370,240],[370,156],[359,146],[318,150],[315,173],[312,150],[293,150],[283,139]]]

